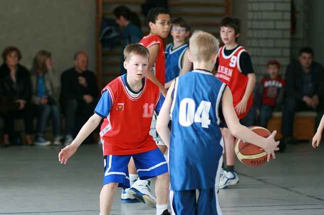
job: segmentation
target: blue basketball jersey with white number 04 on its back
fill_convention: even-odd
[[[206,70],[175,80],[171,105],[171,190],[210,189],[223,154],[219,106],[226,84]]]

